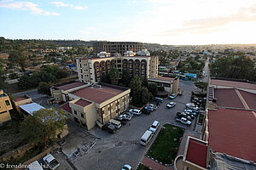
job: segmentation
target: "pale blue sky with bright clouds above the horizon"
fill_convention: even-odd
[[[0,0],[0,37],[152,42],[256,42],[256,0]]]

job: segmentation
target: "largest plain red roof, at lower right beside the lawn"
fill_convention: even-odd
[[[209,110],[208,120],[208,144],[212,150],[256,162],[254,111]]]

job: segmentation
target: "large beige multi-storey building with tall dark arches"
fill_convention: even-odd
[[[126,56],[108,58],[77,59],[79,80],[81,82],[100,82],[102,75],[116,67],[120,73],[127,71],[131,77],[156,78],[158,76],[158,56]]]

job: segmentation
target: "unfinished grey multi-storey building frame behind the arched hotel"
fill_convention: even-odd
[[[99,54],[102,51],[110,53],[111,56],[114,56],[115,53],[124,55],[126,51],[139,52],[143,49],[142,42],[93,42],[93,50],[96,54]]]

